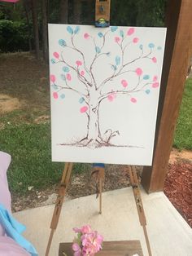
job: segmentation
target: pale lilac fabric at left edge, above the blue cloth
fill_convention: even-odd
[[[7,183],[7,169],[11,163],[11,156],[0,151],[0,204],[11,213],[11,194]],[[0,236],[4,235],[4,229],[0,224]],[[0,254],[1,255],[1,254]]]

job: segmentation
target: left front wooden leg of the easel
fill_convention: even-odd
[[[71,177],[71,173],[72,173],[72,163],[65,163],[63,176],[62,176],[60,187],[59,187],[59,193],[58,193],[57,201],[55,204],[55,210],[50,223],[51,231],[50,231],[50,238],[46,247],[46,254],[45,254],[46,256],[48,256],[50,252],[50,245],[54,236],[54,232],[59,222],[59,216],[61,213],[64,196],[68,188],[68,182]]]

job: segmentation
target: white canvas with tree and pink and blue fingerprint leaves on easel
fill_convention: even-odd
[[[52,161],[151,165],[165,36],[49,24]]]

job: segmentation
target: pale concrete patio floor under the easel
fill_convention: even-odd
[[[152,255],[191,256],[192,229],[164,193],[147,195],[142,190],[142,201]],[[33,243],[40,256],[45,255],[54,208],[55,205],[47,205],[14,214],[15,218],[26,225],[24,236]],[[102,215],[98,214],[98,200],[95,200],[95,195],[65,202],[50,256],[58,255],[60,242],[72,241],[72,227],[81,227],[88,223],[104,236],[105,241],[140,240],[143,254],[148,255],[132,188],[104,192]]]

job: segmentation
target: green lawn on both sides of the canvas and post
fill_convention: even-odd
[[[192,149],[192,79],[188,79],[181,104],[174,147]],[[1,150],[11,154],[8,170],[11,192],[28,192],[28,186],[48,188],[59,183],[63,163],[51,162],[50,121],[34,123],[37,113],[14,111],[0,117]],[[76,164],[74,172],[87,170]]]

